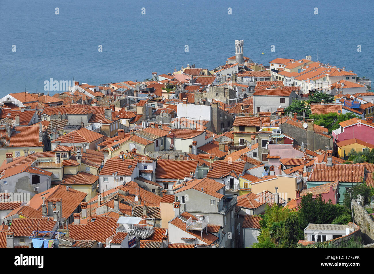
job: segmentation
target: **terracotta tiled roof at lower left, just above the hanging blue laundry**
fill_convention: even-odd
[[[53,231],[55,225],[52,217],[13,219],[10,231],[14,237],[29,237],[34,230]]]

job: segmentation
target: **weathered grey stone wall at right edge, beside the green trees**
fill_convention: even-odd
[[[356,224],[361,227],[362,240],[365,243],[374,243],[374,221],[371,219],[366,209],[358,204],[356,200],[352,200],[353,218]]]

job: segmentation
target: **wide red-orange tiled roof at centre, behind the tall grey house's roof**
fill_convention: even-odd
[[[184,179],[195,173],[197,161],[186,160],[157,160],[157,179]]]

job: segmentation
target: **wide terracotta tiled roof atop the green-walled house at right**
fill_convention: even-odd
[[[365,179],[365,166],[355,164],[314,164],[308,181],[313,182],[362,182]]]

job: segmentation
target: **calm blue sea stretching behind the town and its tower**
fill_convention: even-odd
[[[44,91],[50,78],[97,85],[187,64],[212,69],[234,55],[235,39],[260,64],[316,61],[318,50],[319,61],[373,78],[373,8],[336,0],[0,0],[0,96]]]

